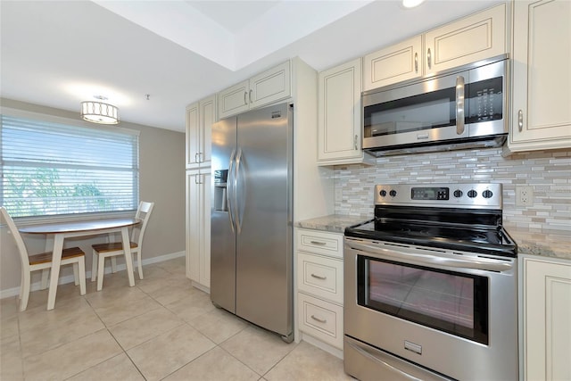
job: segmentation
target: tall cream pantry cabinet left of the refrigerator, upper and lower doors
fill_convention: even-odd
[[[216,96],[186,107],[186,277],[211,286],[211,126]]]

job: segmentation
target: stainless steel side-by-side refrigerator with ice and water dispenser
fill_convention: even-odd
[[[212,126],[211,301],[293,335],[293,106]]]

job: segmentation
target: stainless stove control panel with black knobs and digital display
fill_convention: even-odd
[[[375,186],[376,205],[500,209],[501,184],[393,184]]]

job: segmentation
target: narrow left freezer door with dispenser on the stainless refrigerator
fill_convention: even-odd
[[[236,117],[212,125],[211,301],[236,313],[236,234],[230,213]]]

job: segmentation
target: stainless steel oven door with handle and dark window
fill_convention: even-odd
[[[446,377],[517,379],[515,259],[349,237],[344,248],[346,337]]]

